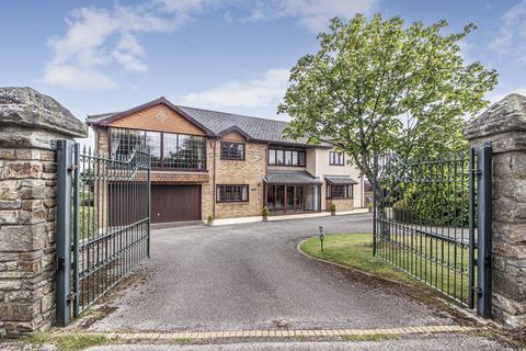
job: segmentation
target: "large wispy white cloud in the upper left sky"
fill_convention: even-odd
[[[194,11],[201,11],[204,1],[164,0],[142,7],[77,9],[66,19],[66,34],[48,41],[53,58],[41,81],[73,90],[116,88],[118,84],[105,72],[108,66],[128,72],[148,70],[140,34],[173,31]]]

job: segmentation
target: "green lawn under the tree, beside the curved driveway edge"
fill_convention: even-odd
[[[319,237],[313,236],[304,241],[300,249],[307,254],[316,258],[340,263],[368,273],[423,285],[409,273],[395,268],[392,264],[378,257],[374,257],[371,234],[327,235],[323,246],[324,250],[322,252],[320,250]],[[444,256],[446,256],[446,253],[447,252],[444,250]],[[428,284],[449,293],[449,295],[456,295],[459,299],[461,295],[461,301],[467,301],[469,293],[468,276],[450,274],[447,269],[444,269],[444,272],[442,272],[442,267],[436,262],[431,262],[430,260],[423,259],[410,251],[404,251],[403,254],[397,257],[388,257],[387,254],[384,254],[384,257],[389,259],[389,261],[393,261],[397,265],[410,270],[413,274],[420,276]],[[462,262],[466,259],[467,258],[462,256],[462,260],[460,260],[459,257],[458,261]]]

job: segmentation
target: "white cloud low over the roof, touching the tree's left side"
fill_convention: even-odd
[[[277,106],[288,87],[288,69],[271,69],[248,81],[232,80],[185,94],[179,102],[207,109]]]

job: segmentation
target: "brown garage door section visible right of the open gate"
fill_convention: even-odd
[[[199,219],[201,185],[151,184],[152,223]]]

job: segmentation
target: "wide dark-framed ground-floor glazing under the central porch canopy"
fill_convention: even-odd
[[[267,184],[265,199],[273,214],[321,210],[318,184]]]

